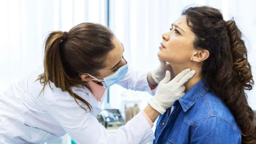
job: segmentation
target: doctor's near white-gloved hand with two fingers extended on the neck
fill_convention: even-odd
[[[184,84],[194,76],[196,71],[190,71],[189,68],[180,72],[174,79],[171,79],[171,73],[166,71],[165,78],[159,83],[155,96],[153,96],[148,104],[161,114],[171,107],[175,100],[181,98],[185,93]]]

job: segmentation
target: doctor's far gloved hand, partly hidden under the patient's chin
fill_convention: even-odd
[[[158,66],[158,68],[156,68],[155,70],[151,71],[151,76],[156,83],[160,83],[160,81],[164,79],[166,71],[170,71],[170,72],[172,71],[172,67],[170,64],[167,64],[165,61],[161,60],[160,58],[159,58],[159,61],[160,61],[160,66]]]

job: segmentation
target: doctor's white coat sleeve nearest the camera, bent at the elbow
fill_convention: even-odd
[[[138,113],[116,134],[107,133],[90,112],[86,112],[69,95],[52,96],[45,100],[49,114],[78,144],[140,144],[155,139],[150,124]]]

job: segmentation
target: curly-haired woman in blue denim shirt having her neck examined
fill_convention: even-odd
[[[185,84],[186,94],[160,115],[154,143],[256,143],[245,93],[254,81],[235,21],[211,7],[190,7],[162,39],[158,56],[174,74],[184,68],[196,74]]]

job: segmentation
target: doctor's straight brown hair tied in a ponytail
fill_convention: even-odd
[[[52,82],[55,87],[73,96],[77,104],[78,99],[91,111],[91,105],[73,93],[71,87],[89,88],[80,74],[98,75],[97,71],[105,67],[106,55],[114,49],[113,37],[109,28],[96,23],[81,23],[69,32],[50,33],[45,42],[44,73],[37,79],[44,84],[41,93],[47,84],[52,88]]]

